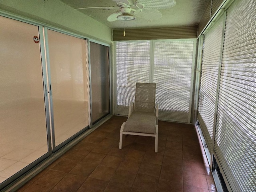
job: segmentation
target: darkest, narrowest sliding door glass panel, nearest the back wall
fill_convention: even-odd
[[[90,42],[92,122],[109,114],[108,47]]]

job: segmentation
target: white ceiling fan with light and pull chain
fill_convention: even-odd
[[[167,9],[173,7],[176,2],[175,0],[112,0],[116,2],[116,7],[85,7],[76,8],[81,9],[92,9],[101,8],[104,10],[118,9],[108,16],[109,22],[116,20],[135,20],[136,16],[145,20],[158,20],[162,18],[162,13],[158,10]]]

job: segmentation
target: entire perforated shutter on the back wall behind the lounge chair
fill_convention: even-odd
[[[136,82],[154,82],[159,118],[190,122],[194,46],[194,39],[116,42],[116,114],[128,115]]]

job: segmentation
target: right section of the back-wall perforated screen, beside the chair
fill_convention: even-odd
[[[156,41],[154,80],[159,119],[188,122],[194,40]]]

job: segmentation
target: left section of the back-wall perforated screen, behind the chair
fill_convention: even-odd
[[[150,41],[116,42],[116,114],[128,115],[136,82],[149,83]]]

